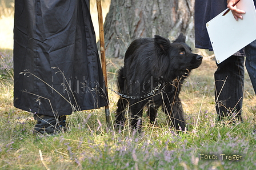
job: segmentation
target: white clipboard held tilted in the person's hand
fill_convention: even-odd
[[[244,10],[243,19],[236,21],[231,11],[225,11],[206,23],[217,63],[229,58],[256,39],[256,10],[253,0],[241,0],[237,8]]]

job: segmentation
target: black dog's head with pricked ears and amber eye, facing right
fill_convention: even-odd
[[[186,37],[182,33],[173,43],[169,39],[155,35],[155,57],[158,60],[155,66],[158,67],[161,76],[182,76],[185,72],[189,73],[200,66],[203,57],[194,54],[185,40]]]

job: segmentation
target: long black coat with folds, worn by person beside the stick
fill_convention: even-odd
[[[89,0],[15,0],[14,106],[61,116],[107,102]]]

